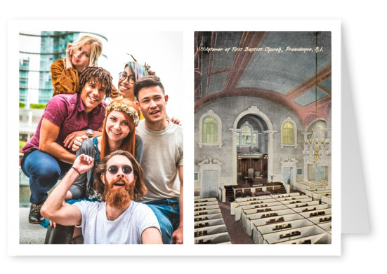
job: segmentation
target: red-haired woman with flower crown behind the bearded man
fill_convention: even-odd
[[[105,120],[103,121],[102,136],[86,139],[77,150],[77,156],[86,154],[94,158],[94,167],[107,154],[118,149],[129,151],[138,161],[143,156],[143,140],[136,135],[136,126],[140,121],[138,107],[131,100],[116,98],[106,107]],[[80,199],[100,201],[102,193],[93,189],[93,170],[88,170],[78,177],[67,191],[66,203],[75,203]],[[44,224],[42,224],[44,226]],[[48,226],[48,224],[46,224]],[[55,228],[53,228],[55,226]],[[75,231],[74,226],[61,226],[53,224],[48,226],[45,243],[70,243],[72,238],[80,235],[80,230]]]

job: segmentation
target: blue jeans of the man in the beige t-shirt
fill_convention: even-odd
[[[145,202],[145,204],[155,212],[162,231],[163,243],[170,244],[172,242],[172,233],[180,224],[178,199],[152,200]]]

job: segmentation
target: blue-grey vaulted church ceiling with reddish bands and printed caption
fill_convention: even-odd
[[[330,32],[195,32],[195,109],[221,97],[260,97],[305,127],[329,118],[331,74]]]

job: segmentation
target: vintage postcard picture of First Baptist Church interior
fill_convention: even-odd
[[[331,40],[195,32],[195,244],[332,242]]]

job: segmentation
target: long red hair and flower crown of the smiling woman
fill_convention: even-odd
[[[109,116],[109,114],[113,110],[117,110],[117,107],[115,107],[115,106],[117,106],[118,109],[120,107],[124,107],[124,106],[132,107],[133,109],[135,109],[137,111],[137,116],[139,114],[138,107],[136,106],[136,104],[134,102],[131,102],[131,100],[128,100],[128,99],[125,99],[122,97],[117,97],[112,102],[110,102],[110,104],[107,106],[106,116],[105,116],[105,119],[103,120],[103,125],[102,125],[103,130],[102,130],[101,151],[100,151],[100,158],[101,159],[104,158],[105,156],[107,156],[107,154],[112,152],[110,149],[110,146],[109,146],[109,142],[107,142],[108,137],[107,137],[107,132],[106,132],[106,121],[107,121],[107,117]],[[135,124],[134,119],[131,116],[131,114],[127,114],[123,110],[118,110],[118,111],[121,111],[122,114],[124,114],[126,121],[128,121],[128,123],[129,123],[129,130],[130,130],[128,136],[126,136],[122,140],[122,144],[121,144],[121,146],[119,146],[119,149],[123,150],[123,151],[128,151],[129,153],[131,153],[131,155],[134,156],[135,155],[135,143],[136,143],[136,124]]]

